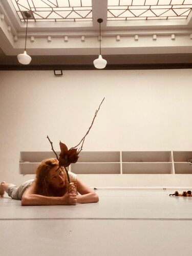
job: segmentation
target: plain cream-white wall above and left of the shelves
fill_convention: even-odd
[[[20,151],[192,150],[188,70],[0,71],[0,180],[19,183]],[[31,177],[30,177],[31,178]]]

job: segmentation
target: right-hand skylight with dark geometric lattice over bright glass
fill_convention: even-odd
[[[108,0],[108,20],[186,19],[192,0]]]

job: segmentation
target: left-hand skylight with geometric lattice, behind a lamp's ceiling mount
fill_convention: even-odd
[[[18,17],[32,11],[30,22],[92,21],[92,0],[11,0]]]

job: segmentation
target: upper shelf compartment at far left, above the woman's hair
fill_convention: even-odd
[[[59,156],[60,152],[56,152]],[[56,158],[53,151],[47,152],[20,152],[20,162],[41,162],[44,159]]]

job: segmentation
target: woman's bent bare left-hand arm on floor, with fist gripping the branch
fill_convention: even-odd
[[[73,184],[71,184],[73,186]],[[62,197],[45,197],[35,194],[35,181],[31,186],[26,189],[22,197],[22,205],[75,205],[77,201],[77,196],[71,188],[70,192],[66,193]]]

